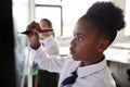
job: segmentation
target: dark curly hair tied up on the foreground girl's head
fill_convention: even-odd
[[[125,27],[122,10],[113,2],[95,2],[80,20],[89,23],[98,36],[107,38],[110,44],[117,32]]]

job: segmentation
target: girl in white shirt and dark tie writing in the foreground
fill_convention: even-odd
[[[27,30],[31,32],[27,37],[35,57],[32,60],[43,70],[61,73],[58,87],[116,87],[106,64],[104,50],[123,27],[121,9],[113,2],[95,2],[76,23],[70,55],[67,58],[49,55],[44,51],[38,40],[39,26],[36,22],[27,26]]]

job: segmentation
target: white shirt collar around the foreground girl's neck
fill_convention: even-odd
[[[106,60],[104,59],[100,63],[78,67],[77,73],[78,77],[84,77],[94,73],[98,73],[106,67]]]

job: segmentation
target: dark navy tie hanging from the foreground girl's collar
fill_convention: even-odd
[[[77,70],[70,73],[68,77],[66,77],[63,82],[61,87],[72,87],[73,84],[76,82],[76,78],[78,77],[77,75]]]

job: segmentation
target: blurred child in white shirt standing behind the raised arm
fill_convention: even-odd
[[[53,29],[52,22],[48,18],[40,20],[41,29]],[[54,37],[54,32],[39,33],[40,41],[50,55],[60,54],[60,44]],[[35,78],[35,87],[57,87],[58,73],[48,72],[38,69],[38,74]]]

